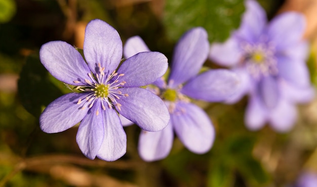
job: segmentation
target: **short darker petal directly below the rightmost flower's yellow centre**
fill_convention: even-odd
[[[259,95],[263,104],[271,109],[276,106],[280,99],[278,82],[272,76],[262,77],[258,84]]]

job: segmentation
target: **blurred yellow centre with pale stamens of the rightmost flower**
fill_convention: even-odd
[[[269,43],[243,44],[247,70],[254,78],[278,73],[274,46]]]

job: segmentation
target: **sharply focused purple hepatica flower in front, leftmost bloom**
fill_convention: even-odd
[[[118,67],[122,51],[117,31],[101,20],[92,20],[85,32],[86,62],[64,41],[45,43],[39,52],[42,64],[54,77],[79,91],[48,105],[39,119],[41,129],[61,132],[81,122],[76,141],[90,159],[97,156],[113,161],[125,154],[127,138],[117,112],[148,131],[162,130],[170,119],[164,102],[139,87],[166,72],[167,58],[144,52]]]

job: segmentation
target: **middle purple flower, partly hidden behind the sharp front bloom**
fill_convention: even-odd
[[[149,51],[144,41],[134,36],[124,46],[124,56]],[[169,154],[174,130],[187,149],[196,154],[209,151],[215,138],[215,129],[203,109],[190,103],[190,98],[209,102],[222,101],[233,94],[239,85],[235,73],[228,70],[209,70],[199,73],[209,53],[207,32],[193,28],[177,43],[168,81],[157,79],[156,88],[149,88],[163,98],[169,108],[171,121],[159,132],[142,131],[139,154],[145,161],[160,160]]]

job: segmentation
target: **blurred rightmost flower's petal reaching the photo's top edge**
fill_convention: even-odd
[[[246,12],[242,18],[242,24],[235,35],[247,42],[254,42],[258,40],[266,25],[266,13],[256,1],[248,0],[245,6]]]

